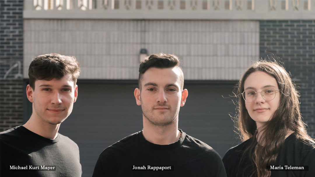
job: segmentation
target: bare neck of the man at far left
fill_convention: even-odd
[[[23,127],[36,133],[37,135],[48,139],[55,139],[58,136],[60,124],[49,124],[33,113],[31,118],[23,125]]]

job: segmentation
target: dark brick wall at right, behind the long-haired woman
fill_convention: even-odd
[[[260,21],[260,56],[282,58],[301,88],[301,113],[315,138],[315,20]]]

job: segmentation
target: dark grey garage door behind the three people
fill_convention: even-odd
[[[142,129],[140,106],[133,95],[135,81],[125,84],[78,81],[78,99],[72,114],[60,126],[80,148],[83,177],[91,176],[94,165],[106,147]],[[188,98],[180,108],[179,128],[213,147],[221,157],[238,142],[228,113],[235,106],[228,97],[232,84],[185,83]]]

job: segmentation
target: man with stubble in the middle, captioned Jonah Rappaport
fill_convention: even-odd
[[[143,130],[107,147],[95,165],[99,176],[226,177],[221,157],[210,146],[178,129],[188,91],[179,59],[153,54],[141,62],[137,105]]]

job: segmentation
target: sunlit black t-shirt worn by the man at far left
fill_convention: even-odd
[[[1,177],[77,177],[82,174],[77,144],[59,133],[52,140],[18,126],[0,133],[0,151]],[[49,170],[39,171],[42,169]]]

